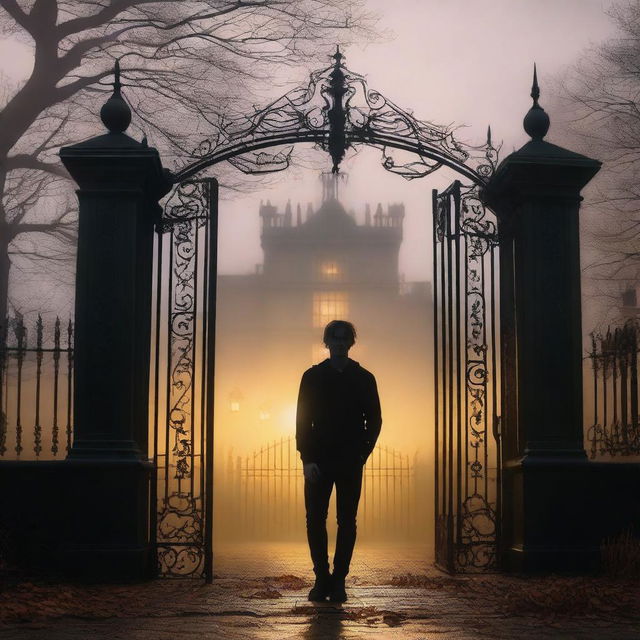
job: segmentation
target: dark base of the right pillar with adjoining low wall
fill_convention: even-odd
[[[605,538],[640,527],[639,464],[528,456],[507,464],[503,481],[505,571],[590,573]]]

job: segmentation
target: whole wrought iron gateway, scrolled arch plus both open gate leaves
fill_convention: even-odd
[[[434,191],[432,200],[434,280],[439,274],[441,284],[437,288],[434,282],[436,556],[448,571],[487,570],[496,563],[499,350],[493,274],[498,238],[479,189],[496,168],[498,149],[492,144],[491,129],[484,145],[465,145],[454,137],[452,128],[417,120],[379,92],[369,90],[363,76],[344,66],[339,50],[333,58],[331,66],[311,74],[307,86],[239,121],[221,120],[216,136],[204,140],[192,153],[191,162],[173,175],[176,186],[164,205],[155,250],[151,428],[157,477],[151,526],[161,575],[209,581],[213,577],[218,186],[214,178],[197,176],[222,161],[245,173],[280,171],[290,164],[291,148],[276,153],[263,150],[303,142],[327,151],[334,173],[349,148],[365,144],[381,150],[384,169],[407,179],[446,166],[471,183],[463,187],[455,181],[442,193]],[[362,99],[359,105],[354,102],[357,96]],[[390,149],[408,151],[414,159],[398,162]],[[476,337],[478,330],[481,339]],[[470,458],[472,450],[480,457]],[[496,469],[492,491],[490,461]]]

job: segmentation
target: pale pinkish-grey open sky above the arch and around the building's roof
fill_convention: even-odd
[[[576,62],[589,46],[613,33],[605,10],[611,0],[369,0],[392,31],[385,42],[350,47],[346,65],[365,75],[370,88],[382,92],[417,118],[441,124],[464,124],[463,142],[481,144],[491,124],[494,142],[503,141],[501,157],[526,142],[522,118],[529,109],[534,61],[541,85],[540,103],[552,103],[551,82]],[[26,45],[0,41],[0,69],[11,79],[30,71]],[[327,66],[320,57],[315,68]],[[308,71],[300,70],[306,80]],[[554,139],[554,114],[549,111]],[[172,168],[170,163],[167,163]],[[401,271],[407,280],[430,277],[430,192],[455,176],[442,170],[408,182],[379,165],[376,150],[364,150],[343,163],[349,174],[343,188],[347,208],[362,218],[365,202],[402,201],[406,205]],[[318,204],[316,171],[294,167],[270,179],[271,185],[245,197],[222,194],[220,207],[221,273],[253,271],[262,261],[258,205],[270,199],[280,209],[286,201]]]

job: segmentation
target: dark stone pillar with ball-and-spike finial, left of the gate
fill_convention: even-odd
[[[74,440],[65,461],[69,514],[63,567],[90,578],[149,575],[147,460],[153,228],[169,189],[158,152],[124,133],[114,92],[109,132],[64,147],[79,200]]]

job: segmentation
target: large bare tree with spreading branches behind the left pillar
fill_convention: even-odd
[[[114,60],[136,114],[134,133],[142,129],[170,162],[211,135],[221,117],[249,109],[279,66],[370,37],[374,25],[365,0],[3,0],[0,7],[0,33],[28,40],[34,55],[26,81],[0,90],[0,319],[16,255],[61,259],[74,244],[74,211],[60,205],[71,186],[57,151],[99,132]]]

